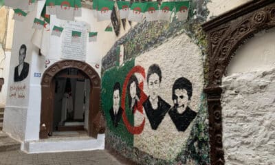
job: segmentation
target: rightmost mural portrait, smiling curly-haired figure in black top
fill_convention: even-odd
[[[168,113],[177,127],[177,131],[185,131],[197,115],[188,107],[192,97],[192,83],[187,78],[178,78],[175,80],[172,92],[174,106]]]

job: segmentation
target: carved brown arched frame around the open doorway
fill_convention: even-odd
[[[68,74],[69,70],[76,71]],[[54,91],[56,78],[74,77],[87,78],[89,80],[89,116],[88,135],[97,137],[104,132],[104,120],[100,112],[100,77],[93,67],[82,61],[65,60],[58,61],[45,70],[41,81],[41,122],[39,137],[47,138],[52,133],[54,114]]]

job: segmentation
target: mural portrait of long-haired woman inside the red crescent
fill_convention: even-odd
[[[133,74],[127,84],[128,104],[132,113],[137,109],[137,102],[140,101],[140,88],[138,87],[137,77]]]

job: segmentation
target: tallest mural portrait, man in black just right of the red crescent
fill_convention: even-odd
[[[143,103],[151,128],[156,130],[170,109],[170,104],[159,96],[159,87],[162,82],[162,71],[159,65],[153,64],[148,68],[147,85],[149,95]]]

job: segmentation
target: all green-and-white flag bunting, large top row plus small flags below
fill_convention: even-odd
[[[38,0],[4,0],[5,5],[14,8],[14,17],[18,21],[23,21],[28,12],[34,8],[34,3]],[[189,1],[165,1],[160,5],[157,1],[130,2],[130,1],[109,1],[94,0],[93,14],[98,21],[111,19],[113,8],[117,8],[120,13],[120,19],[142,22],[144,17],[146,21],[170,21],[173,12],[177,15],[179,21],[188,19]],[[56,15],[58,19],[74,21],[75,17],[82,14],[81,0],[46,0],[41,13],[41,18],[35,18],[32,28],[43,31],[41,35],[48,33],[50,35],[50,15]],[[52,36],[60,37],[63,32],[62,27],[54,25]],[[45,32],[44,32],[45,31]],[[112,32],[111,23],[105,28],[105,32]],[[72,32],[72,42],[80,42],[81,32]],[[98,32],[89,32],[89,42],[97,40]]]

